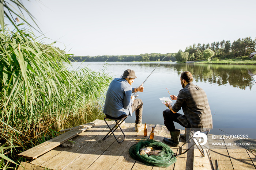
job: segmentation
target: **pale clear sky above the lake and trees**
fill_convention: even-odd
[[[177,53],[256,38],[256,0],[23,1],[47,38],[74,55]],[[64,46],[65,45],[65,46]]]

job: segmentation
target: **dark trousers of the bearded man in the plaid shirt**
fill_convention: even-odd
[[[168,131],[170,132],[176,131],[174,121],[185,128],[191,128],[190,126],[188,127],[182,124],[181,121],[177,119],[179,116],[181,116],[180,113],[173,113],[172,111],[170,111],[170,109],[166,109],[165,111],[163,111],[163,119],[165,120],[164,124],[167,127]]]

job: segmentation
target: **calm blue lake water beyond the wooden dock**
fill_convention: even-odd
[[[74,62],[74,68],[88,67],[99,71],[106,67],[105,72],[113,78],[120,77],[124,70],[135,70],[138,78],[132,87],[138,87],[158,65],[157,62]],[[246,65],[256,80],[256,66]],[[181,87],[180,75],[183,71],[193,74],[193,84],[200,86],[207,94],[211,108],[213,127],[211,134],[249,134],[256,139],[256,84],[245,65],[208,65],[198,63],[167,63],[162,62],[144,83],[144,92],[138,92],[143,101],[143,122],[162,124],[162,112],[165,105],[160,97],[169,97],[169,93],[178,95]],[[173,101],[173,104],[175,101]],[[183,114],[182,110],[179,113]],[[135,122],[133,117],[125,121]],[[184,129],[179,124],[176,128]],[[222,130],[220,133],[218,130]],[[224,133],[225,134],[225,133]]]

